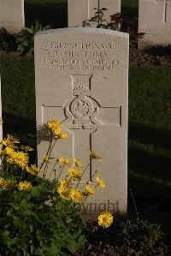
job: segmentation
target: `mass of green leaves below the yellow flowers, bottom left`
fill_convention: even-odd
[[[29,193],[15,188],[0,190],[0,254],[74,253],[85,243],[84,220],[71,201],[59,200],[58,194],[52,193],[55,184],[40,178],[33,184]]]

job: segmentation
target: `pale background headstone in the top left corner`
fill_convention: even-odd
[[[0,27],[18,33],[24,26],[24,0],[0,0]]]

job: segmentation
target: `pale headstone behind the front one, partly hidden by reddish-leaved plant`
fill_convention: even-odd
[[[106,8],[105,19],[109,22],[109,15],[121,12],[121,0],[68,0],[68,27],[82,27],[83,21],[90,20],[96,10]]]

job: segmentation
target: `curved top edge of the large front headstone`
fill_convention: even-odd
[[[120,31],[114,31],[110,29],[103,29],[103,28],[96,28],[96,27],[66,27],[66,28],[59,28],[59,29],[50,29],[41,31],[35,34],[35,36],[42,36],[45,34],[54,34],[54,33],[102,33],[106,35],[112,35],[122,38],[129,38],[128,33],[123,33]]]

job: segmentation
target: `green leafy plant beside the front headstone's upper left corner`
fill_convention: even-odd
[[[21,54],[32,55],[34,52],[34,35],[39,31],[50,29],[50,26],[43,27],[38,21],[31,27],[24,27],[21,33],[16,35],[16,42],[18,44],[17,50]]]

